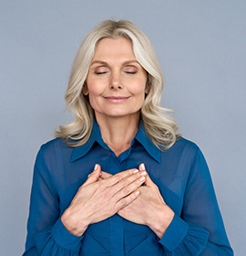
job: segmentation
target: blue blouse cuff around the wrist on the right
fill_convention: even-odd
[[[174,251],[187,235],[188,229],[189,225],[183,219],[180,219],[179,216],[174,215],[169,228],[159,240],[159,243],[169,251]]]

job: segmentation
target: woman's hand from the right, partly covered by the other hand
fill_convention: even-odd
[[[139,165],[139,171],[145,172],[145,166]],[[149,176],[146,177],[145,186],[140,187],[139,197],[130,204],[118,210],[118,215],[132,222],[148,225],[159,238],[163,236],[174,217],[159,193],[159,188]]]

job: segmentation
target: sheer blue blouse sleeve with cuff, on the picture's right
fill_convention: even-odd
[[[159,243],[167,255],[233,255],[200,149],[190,169],[181,215],[175,215]]]

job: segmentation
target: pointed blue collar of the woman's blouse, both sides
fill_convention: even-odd
[[[149,139],[147,133],[145,132],[143,122],[140,122],[138,133],[136,134],[135,138],[133,139],[132,144],[134,143],[134,140],[137,140],[138,143],[142,144],[142,146],[145,148],[145,150],[151,155],[156,161],[160,163],[160,156],[161,152],[159,148],[151,142]],[[102,146],[107,146],[102,140],[101,133],[99,126],[96,121],[93,123],[92,133],[87,141],[86,144],[82,144],[80,146],[77,146],[73,149],[70,162],[76,161],[78,158],[84,156],[87,154],[87,152],[91,149],[93,144],[97,142],[98,144],[101,144]]]

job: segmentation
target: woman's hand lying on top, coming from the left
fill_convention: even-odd
[[[65,228],[75,236],[82,236],[89,224],[108,219],[135,200],[147,174],[129,169],[106,179],[100,175],[101,167],[95,165],[61,217]]]

